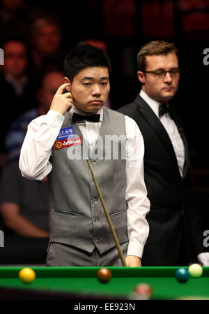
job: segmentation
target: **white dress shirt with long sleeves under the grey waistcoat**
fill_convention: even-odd
[[[81,113],[72,106],[70,114]],[[79,122],[78,126],[84,138],[93,148],[97,141],[103,119],[103,109],[99,122]],[[33,120],[28,127],[26,137],[20,152],[20,170],[26,178],[42,180],[52,170],[49,158],[52,146],[59,134],[64,116],[54,110]],[[146,238],[148,237],[148,222],[146,214],[150,210],[150,201],[144,183],[144,139],[137,123],[125,116],[126,143],[126,191],[127,201],[127,233],[129,245],[127,255],[142,257]],[[114,188],[114,187],[113,187]]]

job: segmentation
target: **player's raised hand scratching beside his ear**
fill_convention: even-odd
[[[59,87],[52,100],[50,110],[61,113],[61,115],[65,115],[66,111],[70,110],[70,108],[72,107],[72,94],[70,92],[66,92],[63,94],[65,88],[69,86],[70,83],[65,83]]]

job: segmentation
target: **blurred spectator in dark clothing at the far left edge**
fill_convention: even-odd
[[[0,86],[3,120],[1,121],[1,154],[5,153],[5,136],[8,126],[20,113],[34,106],[36,83],[28,73],[28,55],[24,42],[8,40],[3,45],[4,65],[1,66]],[[0,167],[5,158],[0,159]]]

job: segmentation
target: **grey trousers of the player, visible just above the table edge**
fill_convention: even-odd
[[[121,244],[124,257],[127,255],[128,242]],[[100,255],[97,248],[88,253],[63,243],[50,243],[47,252],[47,266],[123,266],[116,247]]]

